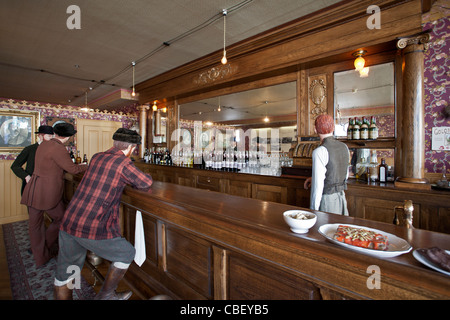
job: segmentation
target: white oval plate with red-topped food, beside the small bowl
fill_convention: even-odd
[[[411,245],[393,234],[351,224],[324,224],[319,233],[345,248],[377,258],[392,258],[411,251]]]

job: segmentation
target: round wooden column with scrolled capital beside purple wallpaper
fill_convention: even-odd
[[[424,118],[424,52],[430,40],[429,33],[401,38],[397,48],[403,55],[402,123],[397,124],[401,134],[401,167],[396,186],[429,188],[425,179],[425,118]],[[415,184],[415,185],[414,185]]]

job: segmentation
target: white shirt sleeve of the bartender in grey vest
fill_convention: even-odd
[[[320,146],[312,153],[312,179],[311,179],[311,197],[310,209],[319,210],[320,201],[322,200],[322,192],[325,181],[326,165],[328,164],[328,150]]]

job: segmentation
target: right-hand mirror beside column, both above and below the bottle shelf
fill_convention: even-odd
[[[386,140],[395,137],[395,76],[394,63],[383,63],[368,67],[367,74],[361,75],[356,70],[334,73],[334,116],[335,135],[348,140]],[[349,125],[358,122],[360,129],[366,122],[365,138],[362,130],[355,133],[348,131]],[[370,135],[370,122],[374,120],[378,134]],[[374,138],[375,137],[375,138]],[[370,147],[350,148],[351,164],[349,177],[364,181],[392,181],[394,177],[394,149]],[[387,175],[378,177],[381,162],[387,165]]]

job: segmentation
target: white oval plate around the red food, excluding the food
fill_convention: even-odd
[[[363,228],[366,230],[375,231],[383,236],[387,236],[388,249],[386,251],[367,249],[367,248],[353,246],[351,244],[347,244],[347,243],[340,242],[340,241],[333,239],[334,233],[336,232],[337,228],[341,225],[354,227],[354,228]],[[364,226],[356,226],[356,225],[345,224],[345,223],[324,224],[323,226],[320,226],[319,233],[321,235],[323,235],[325,238],[327,238],[327,240],[329,240],[333,243],[336,243],[345,248],[348,248],[348,249],[351,249],[351,250],[354,250],[354,251],[357,251],[360,253],[368,254],[368,255],[371,255],[371,256],[374,256],[377,258],[396,257],[401,254],[408,253],[412,249],[411,245],[402,238],[399,238],[397,236],[394,236],[393,234],[390,234],[390,233],[387,233],[384,231],[380,231],[377,229],[372,229],[372,228],[368,228],[368,227],[364,227]]]

